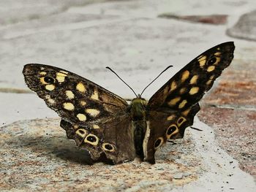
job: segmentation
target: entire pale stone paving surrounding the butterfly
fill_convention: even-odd
[[[255,177],[256,45],[226,35],[255,5],[254,0],[0,1],[0,190],[255,191],[246,172]],[[165,12],[228,19],[214,26],[157,18]],[[230,40],[236,45],[233,63],[203,99],[199,114],[214,131],[196,119],[194,126],[203,131],[188,128],[185,139],[159,151],[154,165],[89,165],[88,154],[65,138],[57,115],[30,94],[21,74],[27,63],[59,66],[130,99],[132,93],[105,66],[140,92],[172,64],[146,90],[149,99],[197,55]]]

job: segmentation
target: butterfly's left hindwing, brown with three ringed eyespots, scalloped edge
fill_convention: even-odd
[[[129,115],[100,121],[94,128],[72,125],[61,120],[61,127],[66,130],[69,139],[74,139],[79,147],[89,151],[94,161],[102,153],[114,164],[133,161],[135,158],[133,128]]]

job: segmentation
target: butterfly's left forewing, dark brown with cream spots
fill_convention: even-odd
[[[126,113],[128,104],[124,99],[72,72],[27,64],[23,74],[29,88],[71,123],[86,125]]]

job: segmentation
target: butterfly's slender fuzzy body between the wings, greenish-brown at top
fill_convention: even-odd
[[[140,97],[132,99],[130,105],[134,142],[137,155],[143,158],[143,139],[146,133],[146,100]]]

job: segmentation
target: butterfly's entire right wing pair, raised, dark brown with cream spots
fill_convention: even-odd
[[[235,47],[225,42],[197,56],[162,86],[148,101],[148,156],[167,139],[184,137],[187,126],[200,110],[197,103],[212,87],[222,70],[230,65]],[[161,126],[159,126],[161,122]],[[153,162],[153,160],[151,160]]]

